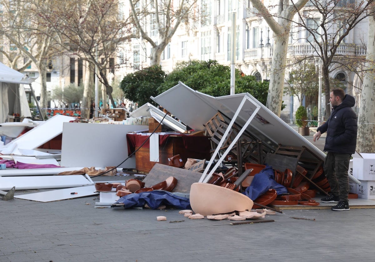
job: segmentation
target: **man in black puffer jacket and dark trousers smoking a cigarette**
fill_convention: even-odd
[[[333,89],[329,99],[333,110],[326,123],[314,135],[314,142],[327,132],[324,151],[324,173],[331,188],[331,194],[322,198],[325,203],[338,203],[332,210],[349,210],[349,161],[356,151],[357,117],[351,107],[356,103],[354,97],[345,95],[343,89]]]

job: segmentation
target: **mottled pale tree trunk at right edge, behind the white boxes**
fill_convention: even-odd
[[[361,107],[358,114],[357,148],[360,153],[375,152],[375,17],[369,17],[366,67],[371,68],[365,73],[362,85]]]

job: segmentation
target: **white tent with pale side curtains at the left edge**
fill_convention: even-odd
[[[31,117],[23,85],[30,85],[33,81],[33,78],[0,63],[0,123],[15,113]]]

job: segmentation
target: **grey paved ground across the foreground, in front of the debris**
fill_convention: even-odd
[[[374,209],[284,210],[261,219],[275,222],[230,225],[98,201],[0,201],[0,262],[375,261]]]

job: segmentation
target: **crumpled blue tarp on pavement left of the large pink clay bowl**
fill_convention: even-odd
[[[168,192],[164,190],[153,190],[138,194],[129,194],[121,197],[116,203],[124,203],[124,208],[144,207],[156,209],[160,205],[170,205],[175,208],[190,209],[189,194]]]

